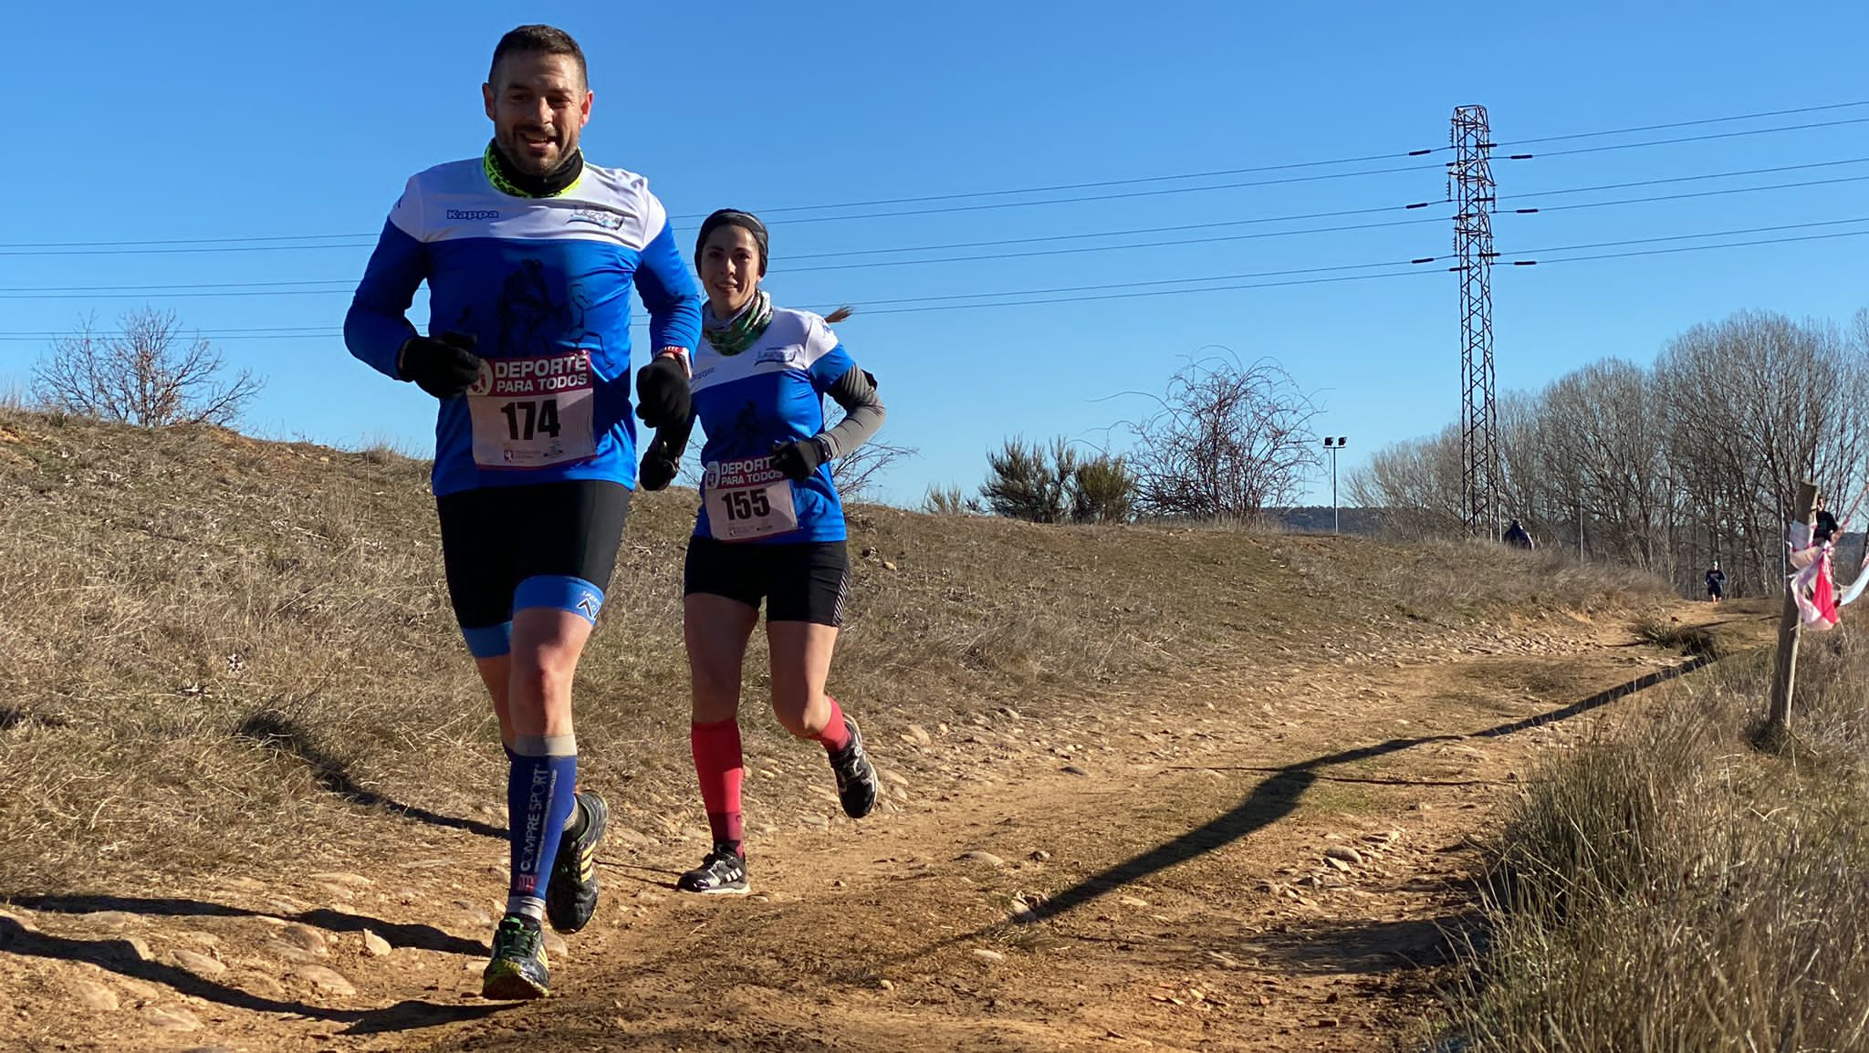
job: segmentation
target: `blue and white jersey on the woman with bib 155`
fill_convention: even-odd
[[[736,355],[701,339],[693,406],[706,443],[695,535],[785,544],[845,541],[830,464],[792,483],[772,466],[772,445],[822,432],[824,391],[854,367],[830,325],[809,310],[774,307],[766,331]]]

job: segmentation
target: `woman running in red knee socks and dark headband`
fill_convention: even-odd
[[[878,426],[877,382],[856,367],[824,318],[772,307],[766,226],[749,213],[706,217],[695,269],[706,292],[693,359],[701,447],[701,512],[688,544],[682,630],[693,690],[695,774],[714,849],[677,888],[744,894],[740,834],[740,666],[766,602],[772,711],[798,739],[822,743],[843,812],[877,804],[877,772],[856,722],[824,694],[837,625],[850,587],[843,505],[830,462]],[[841,318],[841,314],[832,314]],[[824,395],[845,410],[824,426]],[[658,438],[649,458],[673,475],[686,436]],[[673,449],[669,449],[673,445]],[[645,458],[647,460],[647,458]],[[654,483],[662,483],[660,475]]]

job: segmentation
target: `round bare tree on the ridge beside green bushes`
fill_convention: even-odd
[[[1129,423],[1129,468],[1144,514],[1250,518],[1290,505],[1321,469],[1310,421],[1318,408],[1271,359],[1189,363],[1153,397],[1157,411]]]

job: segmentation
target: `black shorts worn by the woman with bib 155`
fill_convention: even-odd
[[[766,621],[843,625],[850,597],[850,554],[841,541],[727,544],[688,539],[682,595],[708,593],[751,608],[766,600]]]

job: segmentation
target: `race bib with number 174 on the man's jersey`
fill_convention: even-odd
[[[589,352],[482,359],[467,389],[480,468],[549,468],[596,454]]]

